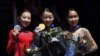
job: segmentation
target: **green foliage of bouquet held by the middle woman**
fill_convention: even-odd
[[[49,30],[44,30],[41,36],[45,41],[50,42],[53,37],[60,38],[62,36],[62,29],[60,27],[50,28]]]

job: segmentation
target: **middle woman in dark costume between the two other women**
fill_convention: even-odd
[[[38,47],[42,56],[63,56],[64,48],[57,35],[62,31],[60,27],[54,27],[53,21],[54,14],[50,9],[46,8],[42,15],[41,20],[45,25],[45,29],[38,33],[39,44]]]

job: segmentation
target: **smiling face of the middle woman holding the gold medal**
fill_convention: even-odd
[[[44,11],[42,15],[42,21],[46,26],[50,26],[54,21],[53,13],[49,11]]]

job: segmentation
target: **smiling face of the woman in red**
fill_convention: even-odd
[[[20,23],[23,27],[29,26],[31,22],[31,13],[29,11],[24,11],[20,16]]]

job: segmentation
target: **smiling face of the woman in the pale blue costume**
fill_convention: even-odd
[[[79,21],[79,16],[75,10],[70,10],[68,14],[68,23],[70,26],[76,26]]]

